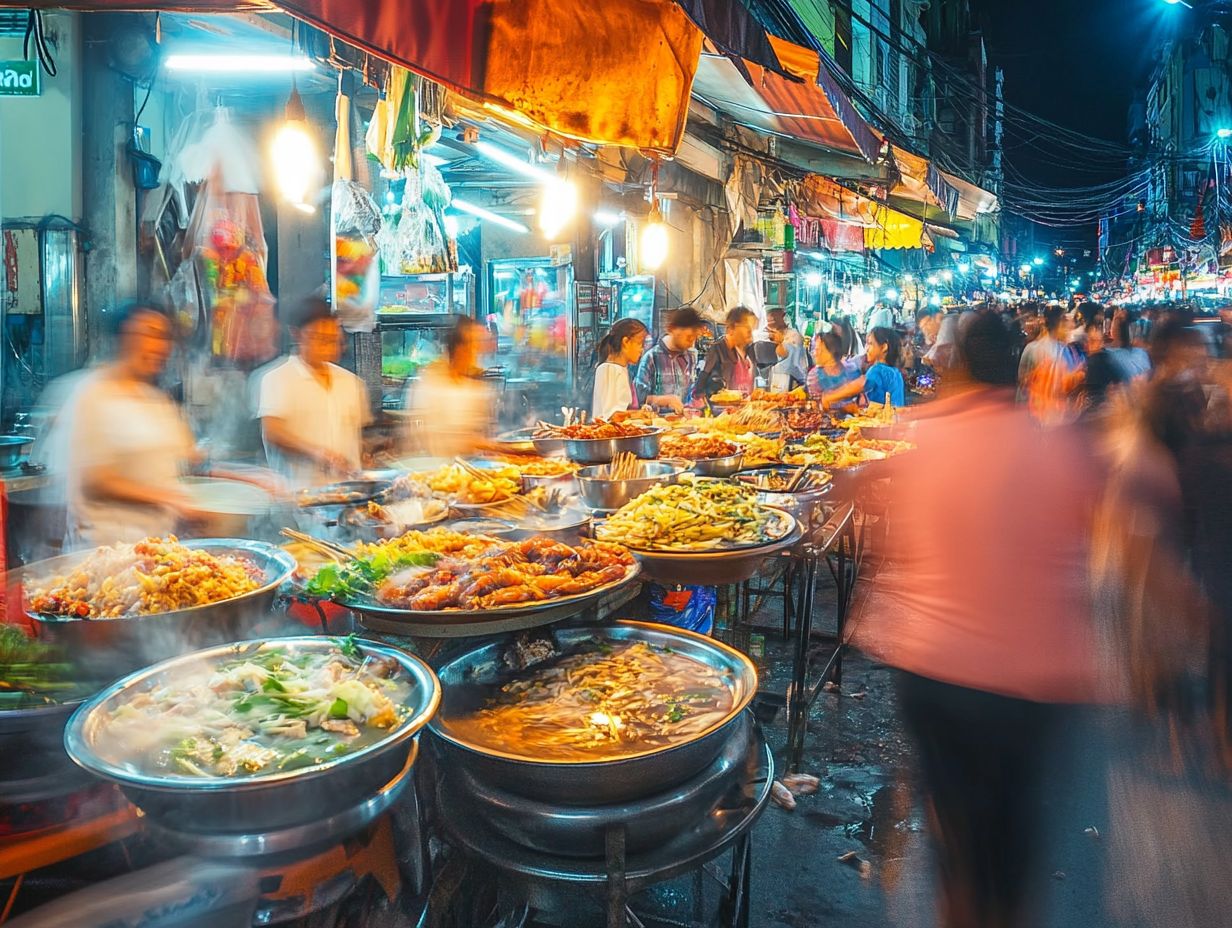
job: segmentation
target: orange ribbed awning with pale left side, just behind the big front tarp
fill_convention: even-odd
[[[750,85],[726,57],[703,54],[694,94],[743,126],[876,160],[876,134],[823,71],[817,53],[774,36],[770,42],[782,67],[800,81],[747,62]]]

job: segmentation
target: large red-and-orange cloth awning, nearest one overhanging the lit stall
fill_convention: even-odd
[[[0,0],[5,6],[281,9],[536,128],[668,154],[684,136],[702,43],[673,0]]]

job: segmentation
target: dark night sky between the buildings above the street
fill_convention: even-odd
[[[1193,15],[1164,0],[983,0],[989,59],[1005,70],[1007,101],[1068,128],[1126,143],[1126,116],[1161,36]],[[1009,120],[1014,120],[1013,115]],[[1042,150],[1041,150],[1042,149]],[[1036,184],[1072,187],[1125,175],[1106,159],[1083,164],[1010,138],[1007,160]],[[1064,164],[1057,164],[1063,161]],[[1050,230],[1053,240],[1093,229]]]

